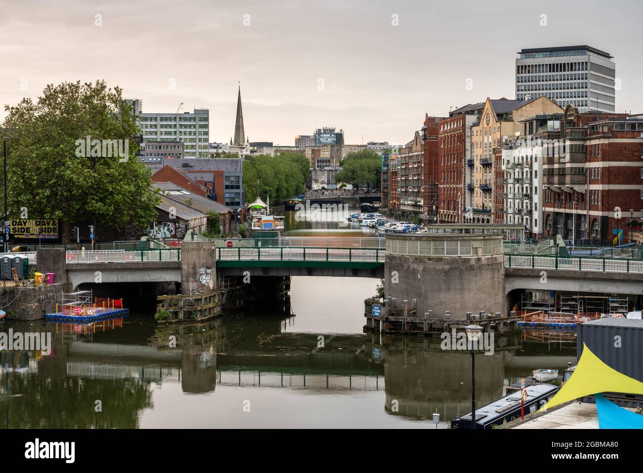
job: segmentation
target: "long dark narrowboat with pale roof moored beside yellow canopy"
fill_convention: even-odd
[[[523,391],[527,391],[527,394],[522,394],[525,396],[525,416],[535,413],[547,404],[547,401],[554,397],[558,389],[558,386],[554,384],[539,383],[525,386]],[[507,394],[491,404],[480,407],[480,409],[476,409],[475,413],[476,429],[491,429],[504,422],[518,419],[520,418],[520,407],[521,391],[514,391],[514,393]],[[453,419],[451,429],[471,429],[471,413]]]

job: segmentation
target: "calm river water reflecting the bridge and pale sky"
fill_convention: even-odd
[[[343,215],[286,217],[291,236],[373,236]],[[0,426],[434,429],[437,412],[448,427],[471,411],[471,355],[443,351],[440,339],[363,333],[377,283],[293,277],[290,310],[204,324],[161,326],[152,307],[93,326],[0,322],[0,332],[49,333],[52,347],[0,350]],[[575,333],[496,340],[476,356],[478,405],[533,369],[573,361]]]

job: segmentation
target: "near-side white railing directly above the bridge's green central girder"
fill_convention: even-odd
[[[217,248],[219,261],[334,261],[384,263],[385,250],[371,248],[314,248],[266,246]]]

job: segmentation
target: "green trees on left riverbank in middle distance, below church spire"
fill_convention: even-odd
[[[249,156],[243,163],[246,201],[251,202],[257,196],[266,201],[269,191],[270,201],[280,203],[287,198],[303,194],[305,183],[310,176],[310,165],[303,154]]]

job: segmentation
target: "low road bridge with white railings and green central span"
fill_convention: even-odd
[[[192,258],[188,268],[186,255],[192,255],[194,248],[199,248],[199,256]],[[387,259],[385,238],[359,237],[214,239],[186,241],[180,249],[129,250],[115,246],[110,250],[65,252],[42,248],[38,255],[26,255],[42,271],[64,266],[75,288],[98,282],[98,274],[102,283],[185,283],[199,279],[197,272],[203,266],[215,268],[217,278],[249,274],[379,279],[385,275]],[[504,266],[505,293],[518,289],[643,293],[643,261],[638,259],[505,254]]]

